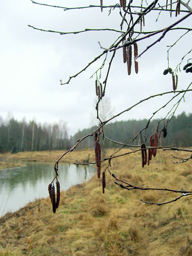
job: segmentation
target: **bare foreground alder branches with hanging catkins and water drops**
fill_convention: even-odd
[[[33,0],[31,0],[32,3],[34,4],[40,4],[37,3]],[[45,30],[42,28],[35,28],[31,25],[28,25],[31,28],[42,30],[42,31],[47,31],[51,33],[59,33],[60,35],[66,35],[66,34],[79,34],[79,33],[85,33],[88,31],[113,31],[113,33],[116,33],[116,40],[115,42],[111,42],[110,47],[106,47],[106,45],[103,45],[102,42],[98,42],[100,48],[102,49],[102,52],[100,55],[96,56],[93,60],[91,60],[82,70],[80,70],[78,73],[73,74],[69,77],[69,79],[65,82],[62,82],[60,80],[60,84],[69,84],[71,79],[74,79],[77,77],[79,74],[81,74],[84,70],[86,70],[88,67],[90,67],[94,62],[99,60],[100,58],[103,58],[102,65],[94,72],[94,74],[91,77],[95,78],[95,84],[94,84],[94,90],[96,90],[96,95],[98,97],[97,103],[96,103],[96,111],[97,111],[97,119],[100,122],[100,125],[97,127],[96,130],[92,131],[91,133],[87,134],[86,136],[79,138],[77,140],[77,143],[70,148],[68,151],[62,154],[60,158],[56,161],[54,169],[55,169],[55,177],[52,180],[50,186],[50,191],[51,191],[51,186],[54,188],[54,180],[57,180],[57,173],[58,173],[58,164],[59,161],[62,157],[64,157],[66,154],[69,152],[72,152],[76,147],[82,143],[83,140],[88,138],[89,136],[94,135],[94,141],[95,141],[95,163],[74,163],[74,164],[96,164],[97,165],[97,170],[98,170],[98,178],[100,177],[100,172],[101,172],[101,164],[104,161],[108,161],[108,167],[103,170],[103,193],[104,193],[104,188],[105,188],[105,172],[106,170],[110,172],[110,166],[111,166],[111,161],[113,158],[116,157],[121,157],[124,155],[130,155],[135,152],[141,153],[142,156],[142,167],[145,165],[149,165],[152,157],[155,157],[157,154],[157,149],[158,150],[177,150],[177,151],[186,151],[189,153],[188,158],[182,159],[178,158],[176,156],[173,157],[173,164],[178,164],[178,163],[185,163],[188,160],[190,161],[192,159],[191,152],[192,150],[190,149],[182,149],[182,148],[174,148],[172,146],[158,146],[158,140],[160,137],[166,137],[167,135],[167,127],[169,125],[169,122],[171,121],[172,117],[175,115],[176,110],[178,109],[180,102],[182,100],[185,100],[186,93],[190,93],[192,89],[190,88],[192,82],[189,84],[184,84],[182,83],[182,89],[178,90],[178,80],[180,76],[180,72],[186,72],[186,76],[190,76],[188,73],[192,73],[192,63],[191,63],[191,53],[192,53],[192,48],[190,51],[185,52],[184,49],[181,49],[181,51],[177,52],[177,55],[180,56],[180,62],[177,64],[175,68],[170,67],[170,51],[174,49],[175,45],[178,44],[178,42],[181,40],[181,38],[185,37],[186,42],[191,43],[191,14],[192,14],[192,9],[189,6],[190,0],[188,2],[183,2],[181,0],[177,0],[175,2],[169,2],[168,0],[154,0],[148,3],[147,1],[141,0],[139,5],[134,5],[135,3],[132,0],[126,1],[126,0],[120,0],[120,2],[116,3],[115,5],[108,5],[105,6],[103,5],[102,1],[100,1],[99,5],[89,5],[89,6],[76,6],[76,7],[62,7],[62,6],[53,6],[49,4],[40,4],[44,6],[49,6],[49,7],[54,7],[54,8],[61,8],[64,11],[73,11],[78,9],[79,12],[82,9],[89,9],[89,8],[100,8],[101,12],[104,9],[108,10],[108,15],[110,15],[112,12],[118,12],[120,15],[120,20],[117,21],[119,22],[119,29],[114,29],[114,28],[89,28],[89,29],[84,29],[81,31],[71,31],[71,32],[62,32],[62,31],[53,31],[53,30]],[[159,17],[162,15],[162,13],[170,13],[171,17],[177,17],[176,19],[174,18],[174,21],[172,19],[166,21],[166,26],[164,24],[160,23],[160,29],[158,30],[153,30],[153,31],[146,31],[145,30],[145,22],[150,21],[150,15],[153,15],[153,13],[157,13],[157,18],[156,22],[159,21]],[[103,14],[104,15],[104,14]],[[105,18],[104,18],[105,19]],[[183,22],[184,20],[188,20],[188,27],[179,27],[180,23]],[[151,22],[151,21],[150,21]],[[104,23],[104,22],[103,22]],[[138,31],[138,24],[140,27],[140,30]],[[151,25],[151,27],[154,27]],[[124,30],[123,30],[124,29]],[[135,73],[138,74],[139,71],[139,60],[143,55],[150,54],[150,49],[156,47],[156,52],[158,52],[159,45],[163,42],[163,39],[165,35],[169,34],[171,31],[174,31],[174,34],[176,34],[177,31],[182,32],[183,34],[179,34],[179,36],[176,36],[175,42],[168,46],[167,50],[167,61],[168,65],[165,68],[165,70],[160,70],[159,72],[161,75],[167,75],[171,74],[171,82],[172,83],[172,90],[166,90],[161,93],[157,93],[154,95],[150,95],[150,91],[148,92],[148,97],[140,100],[138,99],[135,104],[132,106],[129,106],[128,108],[122,110],[121,112],[117,113],[116,115],[111,116],[107,120],[103,120],[102,116],[100,116],[100,101],[102,98],[105,97],[106,93],[106,88],[109,85],[108,84],[108,77],[110,76],[110,68],[112,63],[115,61],[115,54],[117,51],[123,51],[123,62],[127,63],[127,72],[128,75],[131,75],[133,69],[135,69]],[[150,40],[149,40],[150,39]],[[140,47],[142,42],[142,47]],[[139,46],[139,48],[138,48]],[[142,49],[140,52],[140,48]],[[165,50],[166,51],[166,50]],[[107,56],[110,56],[110,61],[108,64],[107,72],[103,74],[103,67],[106,66],[106,59]],[[134,59],[133,59],[134,56]],[[134,63],[132,63],[134,60]],[[102,73],[102,76],[101,76]],[[101,77],[104,77],[104,79],[101,80]],[[125,74],[126,76],[126,74]],[[150,74],[146,74],[146,76],[150,77]],[[127,78],[126,78],[127,79]],[[150,81],[149,81],[150,82]],[[163,83],[163,82],[162,82]],[[135,81],[135,84],[137,84],[137,81]],[[120,85],[118,85],[120,87]],[[140,90],[145,90],[145,88],[140,88]],[[146,101],[150,99],[156,99],[159,98],[159,96],[163,95],[168,95],[169,99],[165,104],[162,104],[160,108],[157,108],[155,111],[153,110],[151,117],[149,118],[147,124],[145,127],[143,127],[140,131],[137,131],[137,134],[132,139],[132,142],[134,142],[138,137],[140,138],[140,145],[128,145],[122,142],[114,141],[111,140],[110,138],[105,136],[105,125],[111,121],[114,120],[116,117],[122,115],[125,112],[130,111],[131,109],[135,108],[136,106],[145,103]],[[177,100],[176,100],[177,99]],[[175,103],[176,100],[176,103]],[[171,107],[170,107],[170,104]],[[156,115],[157,112],[162,110],[163,108],[168,108],[168,113],[157,123],[156,130],[154,131],[153,134],[151,134],[150,138],[147,137],[147,129],[150,123],[150,120]],[[101,151],[100,151],[100,137],[102,137],[103,140],[109,140],[112,143],[118,144],[121,146],[113,155],[110,157],[106,157],[101,159]],[[148,144],[148,145],[147,145]],[[120,152],[120,150],[124,147],[131,147],[131,151],[125,153],[125,154],[120,154],[117,152]],[[155,202],[145,202],[143,203],[148,203],[148,204],[157,204],[157,205],[162,205],[162,204],[168,204],[171,202],[175,202],[178,199],[180,199],[183,196],[188,196],[192,195],[192,191],[183,191],[177,190],[177,189],[168,189],[168,188],[145,188],[145,187],[140,187],[137,185],[132,185],[128,182],[125,182],[124,180],[116,178],[115,174],[112,174],[112,176],[117,180],[115,181],[115,184],[120,186],[120,188],[126,189],[126,190],[132,190],[132,189],[140,189],[140,190],[164,190],[164,191],[172,191],[174,193],[182,193],[182,195],[176,197],[175,199],[168,201],[168,202],[163,202],[163,203],[155,203]],[[121,183],[119,183],[121,182]],[[53,195],[51,194],[51,198]],[[53,201],[53,199],[52,199]],[[55,199],[54,199],[55,201]],[[56,209],[54,210],[54,212]]]

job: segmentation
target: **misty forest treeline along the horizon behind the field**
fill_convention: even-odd
[[[149,138],[154,132],[156,132],[156,125],[158,119],[154,119],[150,122],[147,129],[147,136]],[[138,145],[139,141],[132,138],[143,127],[146,126],[148,120],[128,120],[119,121],[105,125],[105,135],[116,141],[124,142],[126,144]],[[166,122],[165,122],[166,123]],[[13,117],[3,120],[0,117],[0,152],[12,152],[19,151],[41,151],[41,150],[54,150],[54,149],[68,149],[71,148],[76,140],[91,133],[97,127],[93,126],[82,131],[78,131],[74,136],[68,136],[67,123],[60,120],[57,124],[37,124],[34,120],[28,123],[23,119],[17,121]],[[159,129],[163,128],[163,124]],[[102,141],[100,138],[102,147],[118,147],[118,145],[109,142],[107,139]],[[146,143],[148,145],[148,141]],[[163,138],[161,136],[159,145],[173,146],[173,147],[191,147],[192,146],[192,114],[186,115],[185,112],[173,117],[167,126],[167,136]],[[83,140],[78,148],[93,148],[93,137],[88,137]]]

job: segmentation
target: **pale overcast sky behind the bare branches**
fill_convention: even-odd
[[[100,4],[99,0],[39,0],[38,2],[66,7]],[[103,5],[117,2],[103,0]],[[135,4],[139,4],[139,1],[135,1]],[[182,9],[186,10],[185,7]],[[158,13],[158,11],[154,11],[145,17],[145,31],[164,28],[186,15],[186,13],[180,13],[175,18],[173,13],[171,19],[170,13],[166,12],[160,14],[158,22],[156,22]],[[93,63],[76,78],[72,78],[69,84],[60,85],[60,79],[63,83],[67,82],[69,76],[82,70],[94,57],[98,56],[103,51],[100,49],[98,41],[104,47],[109,47],[121,34],[95,31],[76,35],[60,35],[35,30],[28,27],[28,24],[36,28],[69,32],[84,28],[115,28],[119,30],[120,23],[121,17],[118,9],[112,11],[108,16],[108,9],[103,9],[102,13],[100,8],[63,11],[60,8],[33,4],[30,0],[1,0],[0,116],[5,119],[7,113],[11,112],[17,120],[21,120],[23,116],[27,121],[35,117],[36,122],[41,123],[59,122],[62,119],[67,122],[68,132],[72,135],[78,129],[82,130],[94,124],[90,119],[90,113],[94,111],[96,77],[89,78],[101,66],[103,58]],[[191,16],[180,23],[178,27],[188,27],[190,24],[192,24]],[[139,29],[140,25],[137,25],[137,31]],[[126,31],[125,24],[123,30]],[[164,69],[167,68],[166,45],[173,44],[185,32],[183,30],[170,31],[160,43],[143,54],[137,75],[134,72],[133,63],[131,76],[128,76],[126,64],[123,63],[122,49],[116,51],[105,94],[105,97],[111,101],[114,109],[113,115],[149,95],[172,90],[172,76],[170,74],[163,75]],[[175,69],[183,55],[190,51],[191,33],[183,36],[178,44],[170,50],[170,67],[172,69]],[[144,50],[159,36],[139,42],[138,52]],[[106,67],[102,69],[101,82],[105,79],[111,56],[112,53],[108,53]],[[181,64],[181,68],[187,63],[188,58],[192,58],[192,55],[188,56]],[[192,80],[191,73],[186,74],[181,71],[178,76],[178,89],[186,89]],[[182,111],[191,112],[191,95],[191,92],[186,95],[185,103],[180,104],[177,114]],[[116,120],[149,118],[172,96],[160,96],[148,100],[119,116]],[[105,97],[102,99],[103,104]],[[168,105],[168,108],[161,110],[156,118],[164,117],[170,109],[171,105]]]

